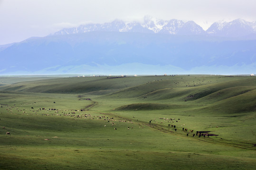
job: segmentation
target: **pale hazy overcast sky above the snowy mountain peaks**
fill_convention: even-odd
[[[46,36],[85,23],[159,19],[256,21],[256,0],[0,0],[0,44]]]

